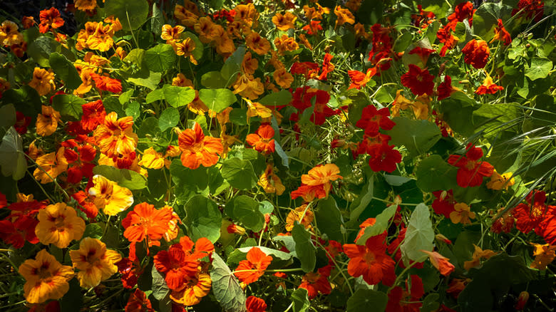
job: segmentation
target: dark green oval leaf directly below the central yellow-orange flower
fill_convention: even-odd
[[[321,233],[326,234],[329,239],[344,241],[344,218],[341,216],[340,209],[336,200],[329,196],[327,199],[319,200],[318,208],[314,212],[316,224],[319,224]]]

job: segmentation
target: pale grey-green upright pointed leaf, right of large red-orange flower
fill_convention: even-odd
[[[426,204],[418,204],[411,213],[406,231],[406,239],[400,246],[404,259],[423,262],[426,260],[426,251],[433,250],[434,230],[431,222],[431,212]],[[408,261],[406,261],[408,262]]]

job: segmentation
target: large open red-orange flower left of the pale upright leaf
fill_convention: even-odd
[[[386,254],[385,234],[372,236],[365,245],[344,244],[344,253],[349,256],[348,273],[351,276],[363,276],[369,285],[391,286],[396,280],[394,266],[396,262]]]

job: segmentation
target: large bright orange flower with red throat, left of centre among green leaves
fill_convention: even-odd
[[[211,167],[218,162],[218,155],[224,147],[217,137],[205,137],[201,126],[195,123],[193,129],[180,132],[177,142],[182,150],[182,164],[190,169],[197,169],[200,165]]]

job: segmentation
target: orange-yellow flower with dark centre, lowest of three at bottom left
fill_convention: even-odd
[[[29,303],[62,298],[68,292],[68,281],[74,275],[71,266],[63,266],[46,249],[38,251],[35,259],[27,259],[18,271],[26,281],[24,296]]]

